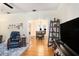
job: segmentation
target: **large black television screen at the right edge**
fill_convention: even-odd
[[[79,54],[79,17],[60,24],[61,41]]]

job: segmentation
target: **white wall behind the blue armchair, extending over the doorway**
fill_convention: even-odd
[[[26,34],[29,37],[29,24],[28,20],[34,19],[53,19],[55,12],[42,11],[42,12],[28,12],[28,13],[16,13],[16,14],[1,14],[0,15],[0,34],[3,35],[3,40],[7,40],[10,37],[11,31],[14,29],[8,29],[9,24],[23,23],[23,29],[19,31],[21,34]]]

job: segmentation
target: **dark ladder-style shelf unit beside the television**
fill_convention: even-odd
[[[50,20],[48,47],[53,46],[55,40],[60,39],[60,20],[54,18]]]

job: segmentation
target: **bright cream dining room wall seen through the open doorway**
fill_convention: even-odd
[[[30,20],[29,32],[31,37],[36,37],[36,31],[40,31],[40,28],[42,31],[46,29],[45,37],[48,37],[48,20],[44,19]]]

